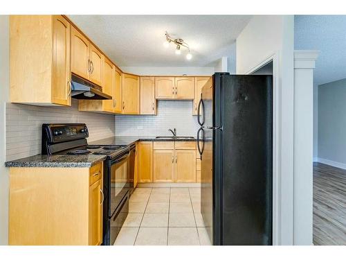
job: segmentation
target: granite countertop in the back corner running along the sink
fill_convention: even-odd
[[[128,146],[136,141],[196,141],[196,138],[190,139],[172,139],[172,138],[156,138],[153,136],[120,136],[109,137],[105,139],[100,139],[97,141],[91,141],[89,144],[99,144],[99,145],[117,145],[117,146]]]

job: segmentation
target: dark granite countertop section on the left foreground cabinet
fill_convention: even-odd
[[[6,167],[91,167],[104,155],[34,155],[5,162]]]

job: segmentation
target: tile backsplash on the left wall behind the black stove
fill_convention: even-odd
[[[6,160],[41,153],[42,123],[86,123],[88,141],[115,134],[115,116],[79,112],[78,101],[71,107],[37,107],[6,103]]]

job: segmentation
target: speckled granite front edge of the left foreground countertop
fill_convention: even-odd
[[[29,157],[27,157],[27,158],[29,158]],[[25,160],[25,159],[26,158],[5,162],[5,166],[8,168],[11,168],[11,167],[17,167],[17,168],[25,168],[25,167],[26,168],[35,168],[35,167],[37,167],[37,168],[51,168],[51,167],[54,167],[54,168],[90,168],[91,166],[97,164],[98,162],[104,161],[104,159],[106,159],[106,156],[95,159],[92,162],[43,162],[43,161],[39,162],[38,160],[36,162],[21,161],[21,160]]]

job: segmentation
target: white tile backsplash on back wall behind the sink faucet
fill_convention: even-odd
[[[199,125],[192,116],[192,101],[158,101],[156,116],[116,116],[116,135],[196,137]]]

